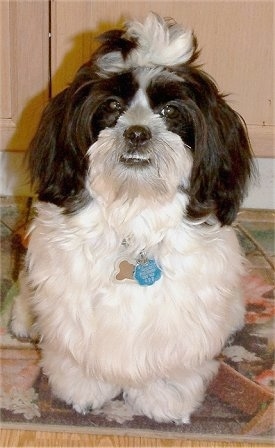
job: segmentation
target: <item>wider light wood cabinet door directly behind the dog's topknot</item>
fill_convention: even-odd
[[[55,0],[51,5],[53,94],[89,57],[95,35],[154,10],[194,29],[199,62],[244,117],[255,154],[272,156],[273,1]]]

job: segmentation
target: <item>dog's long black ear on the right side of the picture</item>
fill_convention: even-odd
[[[250,142],[243,119],[225,102],[214,82],[201,74],[197,86],[201,117],[194,126],[188,214],[200,218],[213,213],[222,225],[229,225],[236,218],[253,173]]]

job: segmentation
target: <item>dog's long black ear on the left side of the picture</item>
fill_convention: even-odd
[[[81,108],[90,89],[74,82],[53,98],[40,120],[28,151],[31,183],[38,199],[66,206],[85,189],[86,151],[91,144],[87,123],[81,123]],[[86,126],[86,133],[79,132]]]

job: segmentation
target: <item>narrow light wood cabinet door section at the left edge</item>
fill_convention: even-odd
[[[0,150],[25,150],[48,100],[49,4],[0,1]]]

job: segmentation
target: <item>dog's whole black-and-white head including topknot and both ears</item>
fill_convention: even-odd
[[[190,219],[230,224],[252,155],[243,120],[194,65],[192,32],[150,14],[100,39],[31,143],[38,198],[72,212],[93,196],[169,201],[180,191]]]

